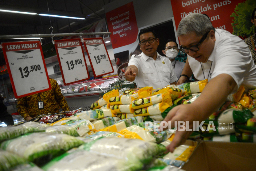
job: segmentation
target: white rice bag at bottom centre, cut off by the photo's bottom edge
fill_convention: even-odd
[[[117,138],[119,139],[119,138]],[[105,149],[104,149],[105,151]],[[103,151],[101,151],[103,152]],[[101,155],[83,149],[70,150],[56,157],[47,165],[43,166],[45,171],[136,171],[143,167],[142,163],[136,161],[127,163],[125,159],[115,156]]]

